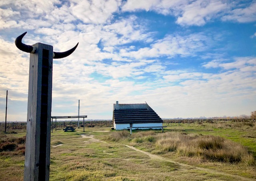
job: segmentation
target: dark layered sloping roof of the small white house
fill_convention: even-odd
[[[116,124],[163,122],[148,104],[114,104],[113,119]]]

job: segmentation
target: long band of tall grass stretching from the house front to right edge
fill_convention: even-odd
[[[107,140],[130,141],[136,144],[146,143],[152,148],[152,153],[164,154],[175,152],[181,156],[199,157],[208,161],[228,163],[245,163],[254,165],[254,157],[241,144],[220,136],[186,134],[181,132],[165,132],[157,134],[154,131],[142,131],[129,134],[126,130],[113,132]]]

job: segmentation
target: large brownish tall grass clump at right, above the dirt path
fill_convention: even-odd
[[[210,161],[254,164],[254,157],[244,146],[220,136],[186,135],[177,132],[159,135],[155,152],[170,151],[176,151],[182,156],[196,156]]]

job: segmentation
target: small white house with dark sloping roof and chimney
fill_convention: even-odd
[[[114,129],[124,130],[128,127],[146,127],[140,129],[159,129],[163,120],[148,104],[116,104],[113,106]],[[157,128],[158,127],[158,128]],[[136,128],[134,128],[136,129]]]

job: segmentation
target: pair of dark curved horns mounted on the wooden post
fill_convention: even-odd
[[[21,51],[25,51],[28,53],[34,53],[36,50],[36,47],[32,47],[31,45],[26,45],[24,43],[22,43],[22,38],[26,35],[27,32],[23,33],[22,35],[18,36],[15,40],[15,45],[18,49],[20,49]],[[70,55],[71,53],[73,53],[73,51],[75,51],[76,47],[78,46],[78,43],[76,44],[76,46],[74,46],[72,49],[68,50],[68,51],[64,51],[64,52],[53,52],[53,58],[54,59],[60,59],[60,58],[64,58],[67,57],[68,55]]]

